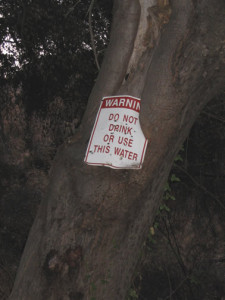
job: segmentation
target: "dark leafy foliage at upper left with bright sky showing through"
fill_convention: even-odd
[[[85,105],[97,69],[90,43],[89,1],[2,1],[0,83],[22,86],[29,112],[55,98]],[[101,61],[108,41],[112,1],[93,9],[93,31]]]

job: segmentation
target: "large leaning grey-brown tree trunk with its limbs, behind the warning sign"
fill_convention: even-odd
[[[10,300],[126,298],[174,157],[222,91],[224,64],[224,0],[115,0],[101,71],[53,163]],[[117,94],[142,99],[142,170],[83,163],[100,100]]]

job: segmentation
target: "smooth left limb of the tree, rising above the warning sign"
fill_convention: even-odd
[[[110,42],[82,120],[84,131],[87,131],[87,138],[89,138],[90,124],[94,123],[100,100],[103,96],[115,94],[123,82],[133,51],[139,18],[138,0],[115,0]]]

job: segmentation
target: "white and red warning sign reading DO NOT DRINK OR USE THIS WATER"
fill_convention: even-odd
[[[147,139],[139,123],[141,100],[131,96],[104,97],[84,161],[114,169],[140,169]]]

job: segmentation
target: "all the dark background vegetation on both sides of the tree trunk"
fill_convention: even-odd
[[[99,63],[104,55],[112,1],[91,4],[0,6],[0,299],[12,288],[57,148],[80,124],[98,73],[93,50]],[[176,158],[129,299],[225,299],[224,96],[204,109]]]

